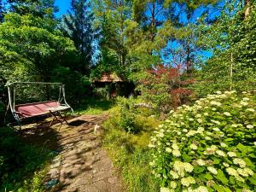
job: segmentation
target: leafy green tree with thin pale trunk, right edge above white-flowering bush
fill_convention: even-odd
[[[255,87],[256,9],[252,2],[249,15],[236,1],[226,3],[212,26],[201,25],[201,43],[212,50],[212,58],[202,67],[198,84],[199,96],[214,90],[252,90]]]

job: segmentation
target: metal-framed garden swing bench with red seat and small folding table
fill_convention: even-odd
[[[55,84],[59,85],[59,98],[57,101],[44,101],[44,102],[32,102],[32,103],[26,103],[26,104],[15,104],[15,88],[17,84]],[[65,96],[65,85],[61,83],[44,83],[44,82],[14,82],[9,83],[6,85],[8,88],[8,95],[9,95],[9,105],[8,109],[10,108],[11,113],[13,114],[15,120],[17,121],[18,125],[20,126],[21,130],[21,121],[24,119],[30,119],[33,117],[40,117],[47,114],[50,114],[53,116],[53,119],[51,120],[49,127],[53,124],[54,120],[57,120],[63,124],[65,121],[67,123],[66,114],[62,115],[62,111],[67,111],[68,109],[72,110],[66,101]],[[67,123],[68,124],[68,123]]]

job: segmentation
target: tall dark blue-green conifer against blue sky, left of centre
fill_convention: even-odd
[[[88,73],[93,65],[95,53],[94,44],[96,43],[96,30],[92,23],[94,15],[87,0],[73,0],[71,10],[64,15],[64,25],[61,30],[71,38],[81,55],[80,64],[77,69],[82,73]]]

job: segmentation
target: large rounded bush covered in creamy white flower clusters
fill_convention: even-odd
[[[253,94],[218,91],[172,111],[148,145],[161,191],[255,191],[255,109]]]

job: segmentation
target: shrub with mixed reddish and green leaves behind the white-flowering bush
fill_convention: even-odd
[[[144,101],[149,102],[160,113],[167,113],[172,108],[185,102],[191,91],[184,88],[189,81],[183,80],[179,68],[158,65],[148,70],[140,80],[140,90]]]

